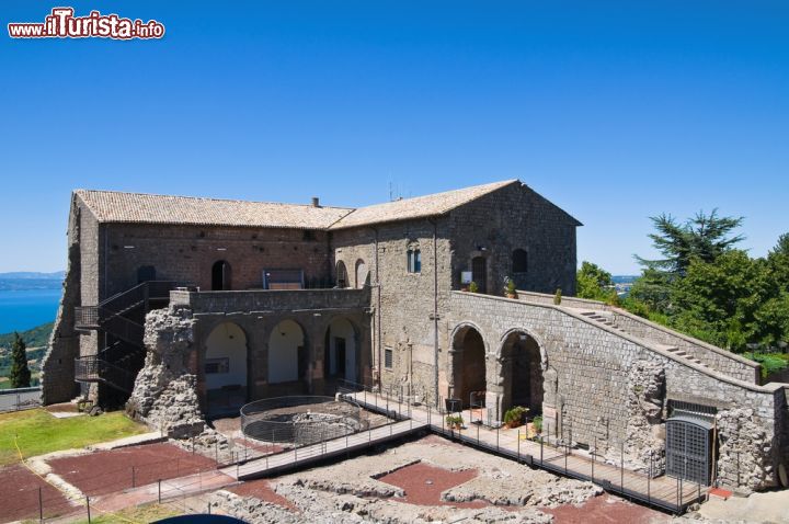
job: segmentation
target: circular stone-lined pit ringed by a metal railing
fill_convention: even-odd
[[[333,397],[275,397],[241,408],[241,432],[248,438],[305,446],[366,430],[362,408]]]

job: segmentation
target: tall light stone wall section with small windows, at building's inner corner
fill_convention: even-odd
[[[374,368],[384,387],[403,387],[434,403],[436,321],[434,309],[447,309],[451,286],[447,219],[437,218],[384,224],[333,232],[336,260],[354,272],[364,260],[370,272],[370,305],[375,310]],[[377,250],[376,250],[377,247]],[[408,250],[419,249],[422,267],[408,271]],[[355,281],[352,278],[352,282]],[[438,324],[438,357],[446,333]],[[444,346],[445,348],[445,346]],[[385,352],[392,352],[386,367]]]

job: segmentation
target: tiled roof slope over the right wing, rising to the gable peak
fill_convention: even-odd
[[[492,184],[474,185],[462,190],[359,207],[332,225],[331,229],[344,229],[348,227],[444,215],[480,196],[516,183],[519,184],[521,182],[517,180],[505,180]]]

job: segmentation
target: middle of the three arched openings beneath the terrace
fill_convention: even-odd
[[[307,377],[305,329],[295,320],[277,322],[268,334],[268,384],[294,383]]]

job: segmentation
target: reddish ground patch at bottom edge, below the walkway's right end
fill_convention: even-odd
[[[554,524],[649,524],[654,522],[655,517],[666,517],[659,511],[607,494],[590,499],[580,506],[564,504],[559,508],[540,508],[539,510],[553,515]]]

